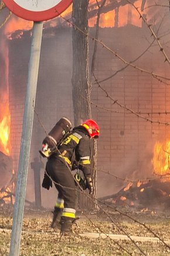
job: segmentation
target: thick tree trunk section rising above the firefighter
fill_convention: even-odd
[[[72,97],[74,125],[90,117],[88,0],[73,0],[73,74]],[[81,31],[80,31],[81,30]]]

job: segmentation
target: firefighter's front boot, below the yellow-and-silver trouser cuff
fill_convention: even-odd
[[[74,218],[69,218],[69,217],[64,217],[64,216],[61,217],[60,236],[73,235],[72,224],[73,224],[74,220],[75,220]]]

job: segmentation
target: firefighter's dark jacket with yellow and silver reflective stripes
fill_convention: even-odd
[[[55,157],[63,163],[66,161],[71,168],[73,162],[77,161],[84,176],[90,175],[90,138],[84,127],[73,128],[58,149],[59,151],[56,151],[51,157]]]

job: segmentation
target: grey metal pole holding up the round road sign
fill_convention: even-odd
[[[23,127],[21,138],[21,149],[19,155],[18,178],[16,187],[15,205],[13,210],[13,223],[11,234],[11,245],[9,256],[18,256],[21,242],[21,231],[23,221],[23,210],[25,202],[26,181],[28,174],[28,161],[30,152],[30,141],[33,124],[33,105],[36,98],[36,87],[38,81],[38,69],[40,59],[40,47],[42,42],[43,22],[33,23],[33,37],[30,50],[28,83],[26,88],[25,109],[23,115]]]

